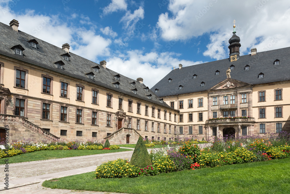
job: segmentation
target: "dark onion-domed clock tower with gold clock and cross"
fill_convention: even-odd
[[[232,38],[230,38],[229,40],[229,49],[230,49],[230,60],[232,61],[236,61],[238,60],[238,58],[240,57],[240,37],[238,37],[236,35],[236,31],[235,31],[235,20],[233,21],[234,23],[234,31],[233,31],[233,36]]]

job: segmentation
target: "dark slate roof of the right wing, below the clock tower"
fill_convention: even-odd
[[[276,59],[280,60],[280,65],[274,65]],[[175,69],[156,83],[151,90],[158,89],[155,94],[159,97],[206,91],[227,78],[226,70],[231,65],[234,65],[231,78],[238,81],[260,84],[290,80],[290,47],[257,52],[253,56],[251,54],[240,56],[233,62],[227,58]],[[245,70],[246,65],[250,66],[249,70]],[[220,71],[219,75],[215,74],[216,70]],[[264,78],[259,78],[260,73],[264,74]],[[197,75],[196,79],[193,79],[194,74]],[[172,79],[171,82],[168,82],[169,78]],[[201,86],[202,82],[205,83],[204,86]],[[183,86],[181,90],[179,90],[180,85]]]

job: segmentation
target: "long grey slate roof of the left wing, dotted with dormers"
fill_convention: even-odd
[[[37,48],[30,47],[29,40],[35,39],[38,44]],[[21,45],[25,50],[23,50],[23,56],[14,54],[14,50],[10,49],[13,46]],[[97,46],[97,45],[96,45]],[[113,90],[115,92],[120,92],[126,96],[142,99],[148,103],[163,106],[167,109],[172,109],[165,102],[160,102],[160,98],[154,94],[151,90],[148,92],[144,89],[147,86],[139,83],[136,80],[130,79],[124,75],[118,74],[113,70],[108,68],[104,69],[102,65],[94,63],[88,59],[78,56],[73,53],[70,54],[70,60],[64,60],[61,56],[66,54],[66,51],[56,47],[48,42],[40,40],[22,31],[13,31],[12,27],[0,22],[0,54],[21,60],[32,65],[44,67],[46,69],[59,72],[77,79],[81,79],[97,86],[102,86]],[[62,61],[64,63],[63,70],[58,69],[56,62]],[[99,66],[99,72],[95,72],[93,67]],[[93,72],[95,75],[94,79],[88,77],[88,73]],[[114,76],[119,75],[119,80],[116,80]],[[119,81],[119,88],[115,88],[113,83]],[[135,81],[135,87],[131,83]],[[133,89],[137,89],[137,94],[134,94]],[[152,95],[151,99],[147,96]],[[173,109],[174,110],[174,109]]]

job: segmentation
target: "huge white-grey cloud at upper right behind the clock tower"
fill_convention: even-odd
[[[245,0],[238,4],[232,0],[169,0],[168,11],[157,22],[161,37],[188,40],[210,33],[208,49],[203,54],[211,58],[229,57],[227,40],[232,35],[233,19],[237,21],[242,54],[248,54],[253,47],[259,52],[290,46],[288,0]]]

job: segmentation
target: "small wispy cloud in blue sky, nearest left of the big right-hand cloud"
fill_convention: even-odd
[[[139,7],[139,9],[134,10],[131,13],[130,10],[126,12],[126,14],[121,18],[120,22],[124,23],[124,29],[128,31],[128,33],[134,33],[135,26],[140,19],[144,19],[144,9],[143,7]],[[144,24],[139,24],[139,28],[142,28]]]

